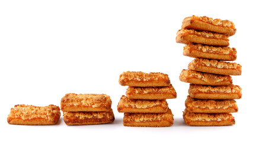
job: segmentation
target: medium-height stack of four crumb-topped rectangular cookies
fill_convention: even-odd
[[[117,110],[124,112],[123,125],[130,127],[168,127],[173,115],[166,99],[177,97],[164,73],[123,72],[119,83],[129,86]]]

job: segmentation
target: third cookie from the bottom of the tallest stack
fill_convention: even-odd
[[[241,99],[242,89],[238,85],[204,86],[190,84],[188,94],[197,99]]]

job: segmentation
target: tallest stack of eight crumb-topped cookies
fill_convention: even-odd
[[[232,84],[231,75],[241,75],[236,49],[228,47],[228,37],[235,34],[233,22],[209,17],[187,17],[178,31],[177,43],[187,44],[183,55],[194,57],[180,80],[190,83],[183,118],[187,125],[232,125],[237,112],[234,99],[241,88]]]

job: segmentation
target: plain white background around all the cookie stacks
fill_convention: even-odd
[[[0,1],[0,139],[21,141],[224,141],[254,138],[255,4],[253,1]],[[235,23],[229,38],[238,51],[242,88],[227,127],[190,127],[182,114],[188,83],[182,69],[193,58],[175,42],[185,17],[199,15]],[[124,127],[117,103],[126,92],[119,75],[126,71],[167,73],[177,91],[168,104],[174,125]],[[67,126],[9,125],[16,104],[60,105],[65,93],[106,93],[112,99],[112,124]],[[1,141],[2,141],[1,140]],[[253,140],[253,139],[251,139]],[[254,138],[255,140],[255,138]]]

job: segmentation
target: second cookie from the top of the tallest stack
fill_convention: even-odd
[[[195,31],[181,29],[177,33],[177,43],[200,43],[210,46],[229,46],[228,35],[210,33],[208,31]]]

